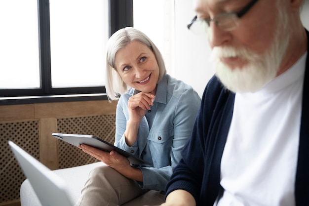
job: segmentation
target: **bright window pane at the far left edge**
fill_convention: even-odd
[[[0,0],[0,89],[39,88],[36,0]]]

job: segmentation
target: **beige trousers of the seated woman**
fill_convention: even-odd
[[[138,184],[109,166],[89,173],[75,206],[157,206],[164,203],[160,191],[142,190]]]

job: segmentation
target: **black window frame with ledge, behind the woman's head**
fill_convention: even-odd
[[[0,89],[0,105],[107,99],[105,86],[51,87],[49,0],[38,0],[38,17],[41,88]],[[133,27],[133,0],[109,0],[109,37],[127,26]]]

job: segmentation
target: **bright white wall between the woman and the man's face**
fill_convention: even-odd
[[[192,85],[201,96],[214,71],[209,64],[211,50],[207,38],[194,35],[187,28],[194,16],[192,0],[175,0],[175,56],[171,74]]]

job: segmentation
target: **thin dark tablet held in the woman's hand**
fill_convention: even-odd
[[[83,134],[62,134],[62,133],[52,133],[52,135],[58,139],[61,139],[65,142],[68,142],[74,146],[79,146],[81,144],[86,144],[97,149],[101,149],[106,152],[111,152],[115,150],[120,155],[128,158],[131,164],[133,165],[144,165],[144,166],[151,166],[150,163],[146,162],[145,160],[136,157],[113,144],[110,144],[96,136],[93,135],[83,135]]]

